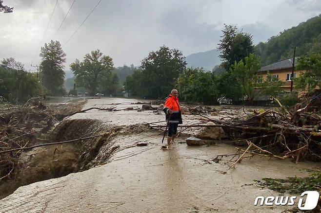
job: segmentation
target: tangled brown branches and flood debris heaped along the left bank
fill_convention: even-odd
[[[20,165],[21,151],[8,150],[33,146],[36,143],[48,142],[47,133],[54,124],[78,110],[81,104],[65,107],[45,106],[39,99],[29,99],[23,106],[4,104],[0,106],[0,180],[15,174]]]

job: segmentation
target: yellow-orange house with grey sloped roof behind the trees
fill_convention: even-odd
[[[259,81],[260,80],[265,80],[266,79],[266,75],[267,75],[267,71],[270,72],[270,74],[274,77],[276,77],[277,79],[279,79],[280,81],[285,82],[283,84],[282,89],[285,92],[290,92],[291,90],[291,78],[292,78],[292,61],[293,61],[293,57],[292,58],[287,58],[278,62],[275,62],[273,64],[269,64],[266,65],[264,67],[262,67],[259,70]],[[295,60],[296,62],[297,60]],[[295,63],[296,64],[296,63]],[[294,71],[294,78],[297,78],[300,76],[301,72],[305,72],[304,70],[299,70],[299,71]],[[295,88],[295,82],[293,82],[293,88]]]

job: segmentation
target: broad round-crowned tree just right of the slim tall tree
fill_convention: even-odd
[[[82,62],[76,59],[70,68],[74,72],[77,85],[88,89],[89,94],[94,95],[98,89],[109,91],[108,88],[113,84],[118,84],[113,82],[115,80],[111,72],[113,66],[113,59],[110,56],[95,50],[87,53]]]

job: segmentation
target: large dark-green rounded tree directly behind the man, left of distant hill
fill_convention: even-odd
[[[161,46],[141,61],[144,90],[141,96],[163,98],[173,89],[180,73],[186,69],[185,57],[177,49]]]

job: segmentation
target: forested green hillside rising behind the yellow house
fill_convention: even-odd
[[[321,52],[321,15],[260,42],[255,49],[264,66],[293,56],[295,46],[297,56]]]

